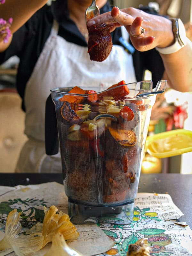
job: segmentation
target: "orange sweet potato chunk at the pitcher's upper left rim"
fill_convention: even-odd
[[[85,91],[83,89],[81,89],[80,87],[75,86],[68,93],[85,94]],[[69,103],[80,104],[84,100],[84,97],[83,96],[77,96],[77,95],[63,95],[63,97],[60,98],[59,100],[61,102],[68,101]]]

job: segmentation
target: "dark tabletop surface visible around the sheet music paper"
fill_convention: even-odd
[[[0,173],[0,186],[40,184],[51,181],[62,184],[62,174]],[[186,221],[192,229],[192,174],[141,174],[138,192],[168,193],[174,204],[185,214],[179,220]]]

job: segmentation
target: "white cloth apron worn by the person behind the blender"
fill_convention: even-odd
[[[125,80],[135,82],[132,55],[118,45],[112,47],[103,62],[91,61],[87,47],[67,42],[58,36],[59,25],[53,23],[43,51],[25,90],[25,134],[28,141],[21,150],[16,172],[61,172],[60,153],[45,154],[45,102],[54,87],[80,86],[102,91]]]

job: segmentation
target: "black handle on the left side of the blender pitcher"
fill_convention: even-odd
[[[51,94],[45,105],[45,152],[47,155],[55,155],[59,151],[59,138],[57,130],[57,117],[55,105]]]

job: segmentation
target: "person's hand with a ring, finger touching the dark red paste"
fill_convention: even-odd
[[[112,24],[111,32],[123,25],[130,35],[133,46],[141,52],[155,47],[164,48],[174,43],[170,20],[132,7],[121,10],[113,7],[111,12],[89,20],[87,26],[90,27],[95,23]],[[141,33],[142,28],[145,29],[144,33]]]

